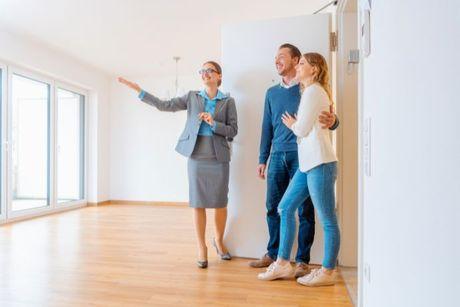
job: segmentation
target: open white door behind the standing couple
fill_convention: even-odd
[[[266,182],[256,176],[261,122],[266,90],[280,81],[274,58],[283,43],[302,53],[321,53],[330,65],[329,14],[298,16],[224,26],[222,64],[224,91],[235,98],[239,134],[233,142],[230,163],[229,220],[226,242],[241,257],[266,252]],[[312,263],[321,263],[323,234],[316,223]],[[297,247],[293,248],[294,252]]]

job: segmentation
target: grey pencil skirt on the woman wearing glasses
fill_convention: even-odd
[[[198,137],[187,164],[190,207],[227,207],[229,163],[217,161],[210,137]]]

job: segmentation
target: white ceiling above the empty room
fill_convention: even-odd
[[[110,75],[181,74],[220,58],[220,26],[311,14],[329,0],[0,0],[0,26]],[[289,31],[289,29],[286,29]]]

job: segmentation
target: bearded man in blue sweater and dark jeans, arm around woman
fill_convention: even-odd
[[[295,66],[300,60],[299,49],[291,44],[279,47],[275,58],[276,70],[282,77],[280,84],[267,90],[265,96],[262,137],[260,142],[258,176],[265,179],[266,165],[270,157],[267,173],[267,223],[269,242],[267,253],[249,263],[251,267],[263,268],[276,260],[280,238],[280,217],[278,204],[286,191],[289,181],[299,168],[297,137],[281,121],[285,112],[296,114],[300,103],[300,86],[295,82]],[[319,120],[323,128],[334,130],[338,126],[335,114],[323,112]],[[315,213],[308,198],[298,210],[299,233],[296,255],[296,278],[309,273],[310,249],[315,235]]]

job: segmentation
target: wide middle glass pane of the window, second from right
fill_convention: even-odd
[[[12,78],[12,210],[49,204],[50,86]]]

